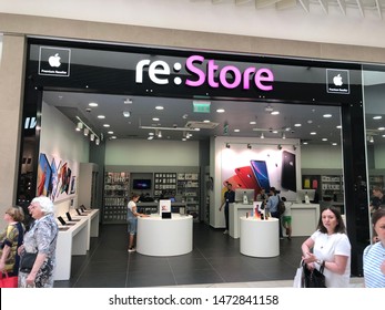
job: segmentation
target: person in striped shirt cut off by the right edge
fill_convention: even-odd
[[[372,215],[374,230],[378,242],[364,250],[364,278],[367,288],[385,288],[385,209]]]

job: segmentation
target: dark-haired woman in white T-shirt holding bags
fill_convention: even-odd
[[[310,270],[323,269],[327,288],[347,288],[351,249],[340,211],[328,207],[321,213],[317,230],[302,244],[302,259]]]

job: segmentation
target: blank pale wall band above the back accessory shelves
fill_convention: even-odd
[[[199,143],[166,140],[108,141],[105,165],[199,166]]]

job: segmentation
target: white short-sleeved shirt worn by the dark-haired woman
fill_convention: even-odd
[[[322,234],[320,230],[315,231],[311,238],[314,240],[313,252],[317,259],[334,261],[334,256],[347,256],[347,264],[345,272],[338,275],[328,269],[324,269],[326,287],[327,288],[347,288],[351,278],[351,242],[345,234]],[[315,264],[320,270],[320,266]]]

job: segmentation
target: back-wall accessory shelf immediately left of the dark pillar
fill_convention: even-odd
[[[178,174],[178,197],[186,204],[186,214],[192,215],[194,221],[200,220],[200,180],[197,173]]]

